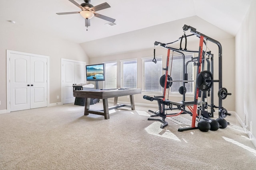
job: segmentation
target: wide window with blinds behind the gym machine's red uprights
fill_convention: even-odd
[[[191,61],[192,57],[194,57],[193,53],[185,54],[185,64],[188,61]],[[183,72],[182,72],[183,57],[182,57],[182,55],[173,55],[173,61],[172,61],[172,57],[170,57],[169,70],[168,70],[169,75],[170,75],[170,70],[171,70],[171,62],[172,62],[172,73],[171,73],[172,80],[183,80]],[[187,73],[188,73],[188,80],[194,80],[193,62],[190,62],[188,64]],[[182,86],[182,82],[172,82],[172,86],[170,87],[170,92],[171,93],[179,93],[180,86]],[[194,82],[185,83],[185,87],[187,89],[187,92],[186,92],[187,94],[194,93]]]

